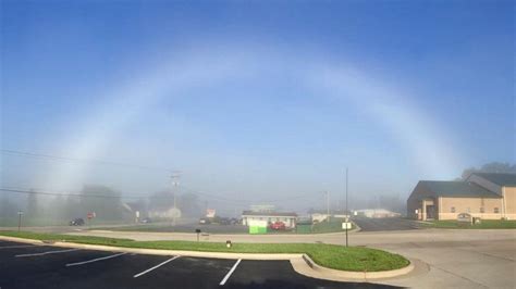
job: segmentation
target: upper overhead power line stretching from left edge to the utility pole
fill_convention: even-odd
[[[65,162],[75,162],[75,163],[94,164],[94,165],[135,167],[135,168],[140,168],[140,169],[163,171],[163,172],[169,172],[169,173],[174,172],[174,169],[170,169],[165,167],[147,166],[147,165],[138,165],[138,164],[130,164],[130,163],[119,163],[119,162],[111,162],[111,161],[103,161],[103,160],[67,158],[67,156],[60,156],[60,155],[52,155],[52,154],[33,153],[33,152],[26,152],[26,151],[4,150],[4,149],[0,151],[4,154],[44,159],[44,160],[51,160],[51,161],[65,161]]]

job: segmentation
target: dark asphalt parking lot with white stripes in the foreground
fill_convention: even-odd
[[[0,288],[388,288],[297,274],[288,261],[143,255],[0,241]]]

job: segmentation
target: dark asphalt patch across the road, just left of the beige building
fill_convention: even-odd
[[[361,231],[410,230],[419,228],[417,222],[400,217],[355,217],[353,222],[360,227]]]

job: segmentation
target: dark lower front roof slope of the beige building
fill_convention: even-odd
[[[502,198],[471,181],[420,180],[419,185],[425,186],[435,197]]]

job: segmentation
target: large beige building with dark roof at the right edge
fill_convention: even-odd
[[[407,200],[415,219],[516,219],[516,174],[474,173],[466,180],[420,180]]]

